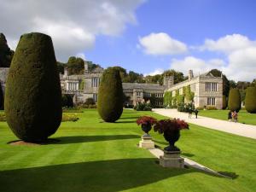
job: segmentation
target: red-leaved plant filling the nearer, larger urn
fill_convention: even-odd
[[[166,131],[180,131],[183,129],[189,129],[189,125],[181,119],[162,119],[154,125],[154,131],[158,131],[160,134]]]

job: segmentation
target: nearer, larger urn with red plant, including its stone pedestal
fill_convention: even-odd
[[[184,167],[184,159],[180,157],[181,151],[175,146],[183,129],[189,129],[189,125],[180,119],[162,119],[154,125],[154,131],[163,134],[169,143],[169,146],[164,148],[164,155],[160,156],[160,166]]]

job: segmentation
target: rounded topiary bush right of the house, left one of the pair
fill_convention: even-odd
[[[228,106],[231,111],[236,111],[236,112],[240,111],[241,96],[237,88],[230,90]]]

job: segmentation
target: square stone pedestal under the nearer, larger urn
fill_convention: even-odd
[[[184,159],[180,157],[180,151],[164,151],[164,155],[160,156],[160,166],[184,168]]]

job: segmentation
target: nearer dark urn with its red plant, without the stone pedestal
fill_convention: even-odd
[[[166,151],[179,151],[174,143],[180,137],[180,131],[183,129],[189,129],[189,125],[181,119],[162,119],[154,125],[154,131],[158,131],[160,134],[164,133],[164,137],[169,146],[165,148]]]

